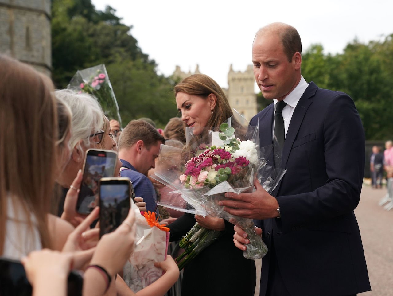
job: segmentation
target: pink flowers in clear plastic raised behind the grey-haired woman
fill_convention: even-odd
[[[104,64],[78,70],[67,88],[93,95],[100,103],[105,115],[109,119],[119,121],[121,127],[118,102]]]

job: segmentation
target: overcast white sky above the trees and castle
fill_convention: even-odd
[[[325,53],[342,52],[355,37],[380,40],[393,33],[393,2],[387,0],[92,0],[96,9],[116,9],[159,74],[183,71],[211,76],[227,87],[230,64],[251,64],[255,32],[271,22],[298,29],[303,51],[320,43]]]

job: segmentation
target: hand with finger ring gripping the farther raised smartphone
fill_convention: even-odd
[[[74,227],[77,227],[86,218],[86,215],[78,214],[75,210],[82,178],[82,171],[79,170],[70,189],[68,189],[66,199],[64,200],[64,210],[61,214],[61,219],[70,222]]]

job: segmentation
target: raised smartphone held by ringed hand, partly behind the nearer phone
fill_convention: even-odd
[[[79,189],[76,211],[90,214],[98,206],[99,180],[113,177],[118,154],[112,150],[89,149],[83,165],[83,179]]]

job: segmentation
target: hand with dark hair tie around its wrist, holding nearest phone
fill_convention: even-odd
[[[91,265],[100,265],[114,276],[129,259],[134,249],[135,214],[131,209],[127,218],[111,233],[103,235],[97,244]]]

